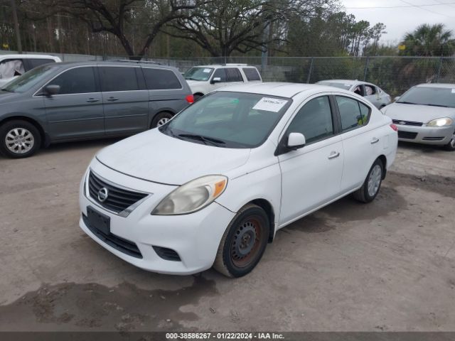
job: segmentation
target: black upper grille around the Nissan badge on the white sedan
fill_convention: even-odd
[[[104,202],[100,201],[98,198],[98,192],[102,189],[107,189],[107,198]],[[88,178],[88,191],[90,197],[95,200],[102,207],[111,210],[112,212],[122,212],[128,207],[134,205],[139,200],[144,199],[147,196],[146,193],[138,193],[132,190],[126,190],[124,188],[119,188],[107,181],[102,180],[99,176],[95,175],[93,172],[90,172]]]

